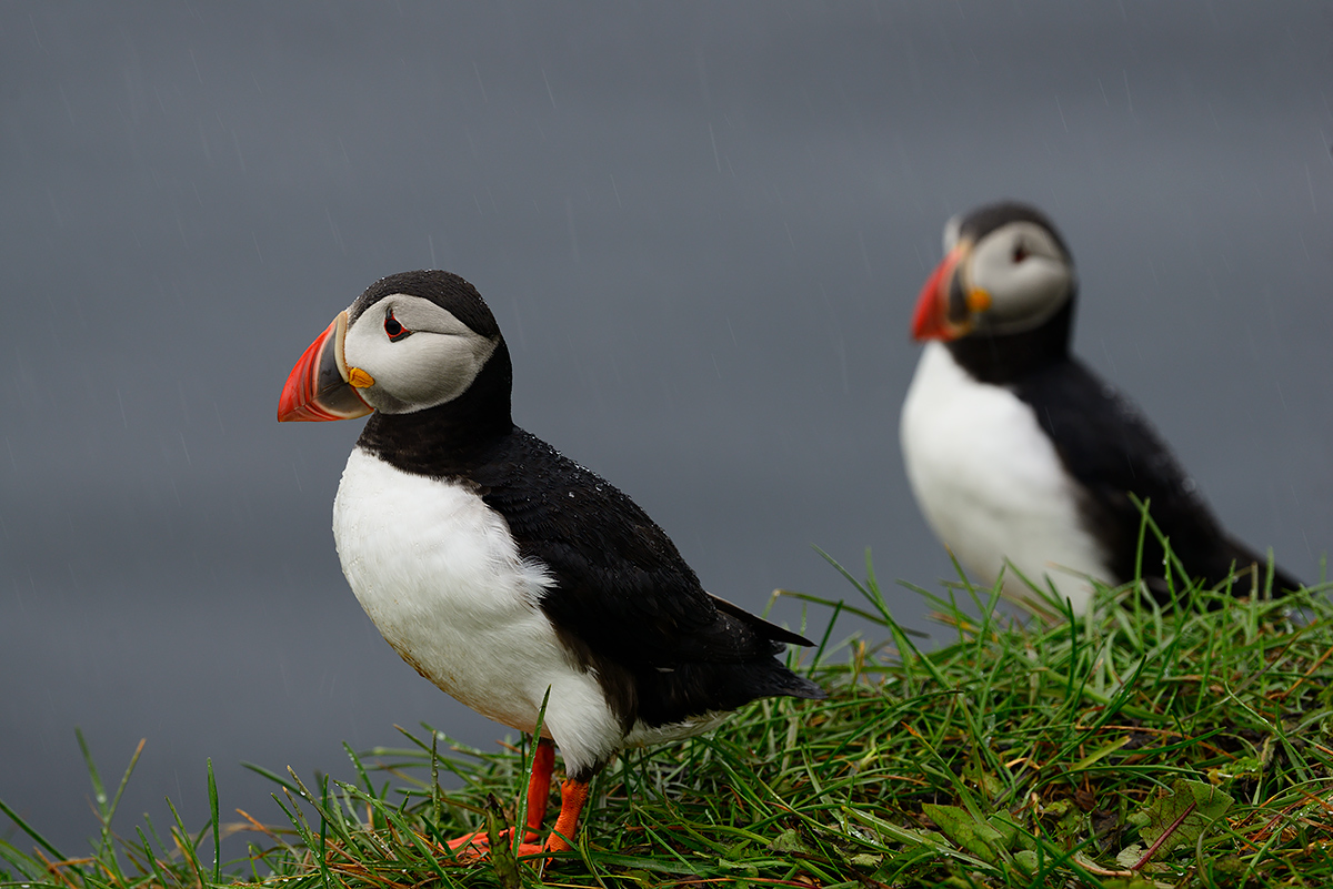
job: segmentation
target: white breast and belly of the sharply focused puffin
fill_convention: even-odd
[[[365,614],[419,673],[520,731],[537,723],[571,771],[611,756],[623,731],[539,607],[549,576],[524,562],[504,518],[463,484],[352,451],[333,539]]]

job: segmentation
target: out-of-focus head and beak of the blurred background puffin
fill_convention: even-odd
[[[1040,327],[1077,289],[1073,257],[1040,210],[992,204],[944,229],[944,261],[926,279],[913,339],[1004,337]]]

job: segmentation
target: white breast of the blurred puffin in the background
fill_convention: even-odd
[[[902,405],[902,456],[926,522],[974,579],[993,584],[1008,558],[1029,580],[1084,611],[1090,575],[1109,579],[1084,530],[1076,483],[1032,409],[980,383],[941,343],[928,343]],[[1005,590],[1030,595],[1006,572]]]

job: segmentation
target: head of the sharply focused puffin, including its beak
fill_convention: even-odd
[[[496,353],[508,401],[508,351],[476,287],[448,271],[403,271],[367,287],[301,355],[279,422],[412,414],[467,393]],[[500,355],[497,355],[500,357]]]

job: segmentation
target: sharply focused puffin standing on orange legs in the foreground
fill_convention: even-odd
[[[311,343],[277,419],[369,415],[333,502],[343,574],[421,676],[520,732],[540,720],[519,853],[549,856],[571,848],[589,783],[621,748],[825,692],[777,659],[809,639],[705,592],[644,510],[515,425],[512,378],[476,287],[405,271]],[[555,747],[567,779],[541,842]],[[484,834],[449,848],[488,853]]]

